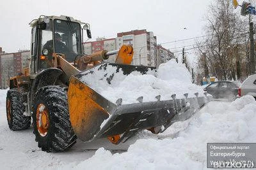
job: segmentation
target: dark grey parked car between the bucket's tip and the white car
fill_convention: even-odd
[[[205,87],[205,91],[212,95],[214,99],[228,99],[233,101],[238,94],[239,86],[235,81],[215,81]]]

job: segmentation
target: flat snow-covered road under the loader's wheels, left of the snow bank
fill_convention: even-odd
[[[42,152],[37,147],[33,129],[10,131],[5,111],[7,90],[0,90],[0,169],[56,169],[65,164],[78,164],[92,157],[95,150],[104,146],[111,152],[124,152],[130,141],[124,145],[112,145],[107,139],[93,143],[83,143],[77,140],[76,145],[64,153]]]

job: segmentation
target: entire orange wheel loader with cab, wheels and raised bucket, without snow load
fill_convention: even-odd
[[[6,97],[6,117],[11,130],[27,129],[33,120],[38,147],[47,152],[67,150],[82,141],[108,138],[125,142],[143,129],[165,131],[174,122],[186,120],[207,103],[207,97],[122,104],[122,98],[109,101],[90,84],[111,84],[117,73],[147,74],[155,67],[131,66],[132,46],[120,50],[83,52],[83,32],[91,37],[90,25],[67,16],[40,16],[32,20],[29,67],[10,78]],[[102,60],[116,54],[116,62]],[[111,71],[109,71],[111,67]],[[95,76],[95,74],[99,74]],[[92,81],[93,79],[93,81]],[[189,104],[188,104],[189,103]]]

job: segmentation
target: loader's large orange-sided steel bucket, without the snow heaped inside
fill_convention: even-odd
[[[167,101],[157,96],[153,102],[143,102],[143,97],[139,97],[138,103],[122,104],[121,98],[113,103],[92,88],[92,83],[111,84],[115,74],[127,75],[132,71],[148,74],[155,70],[154,67],[104,63],[70,78],[70,121],[79,139],[109,138],[118,144],[143,129],[163,132],[174,122],[191,117],[207,103],[207,97],[187,98],[186,94],[184,99],[175,99],[173,95]]]

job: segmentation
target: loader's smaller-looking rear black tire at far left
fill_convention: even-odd
[[[26,108],[24,106],[25,97],[22,96],[25,90],[20,87],[19,89],[10,89],[6,96],[6,117],[9,128],[12,131],[19,131],[28,129],[31,124],[31,117],[23,115]]]

